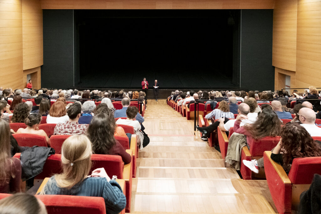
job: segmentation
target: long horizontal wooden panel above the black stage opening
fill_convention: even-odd
[[[40,0],[42,9],[273,9],[275,0]]]

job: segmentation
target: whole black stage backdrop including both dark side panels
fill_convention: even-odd
[[[145,76],[163,88],[273,90],[272,23],[273,10],[43,10],[41,83],[135,88]]]

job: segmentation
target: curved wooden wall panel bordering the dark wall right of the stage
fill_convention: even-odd
[[[296,69],[297,0],[276,0],[273,10],[272,65]]]

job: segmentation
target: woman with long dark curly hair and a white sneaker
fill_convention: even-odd
[[[282,127],[281,139],[272,149],[271,158],[282,165],[289,173],[294,158],[318,157],[321,156],[321,147],[314,141],[308,131],[299,123],[287,123]],[[243,160],[245,166],[255,173],[259,167],[264,167],[263,158],[258,160]]]

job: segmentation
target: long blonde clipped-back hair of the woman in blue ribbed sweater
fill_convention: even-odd
[[[91,168],[91,142],[85,135],[73,135],[61,147],[63,173],[55,175],[60,188],[70,189],[82,182]]]

